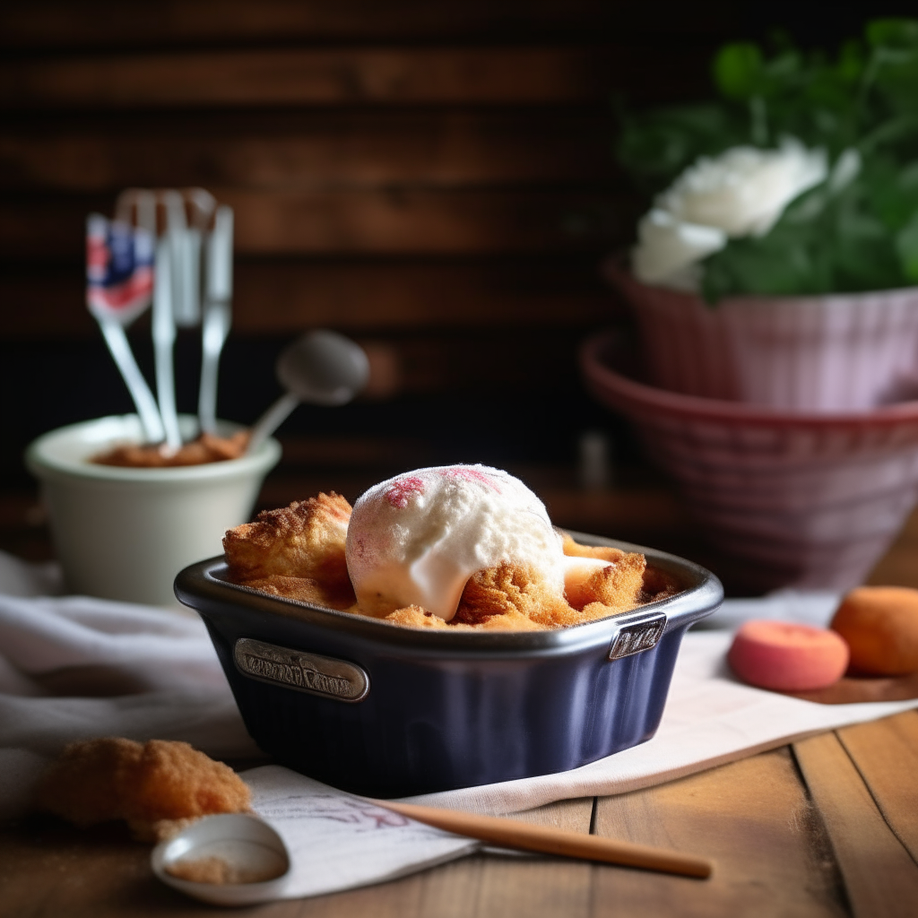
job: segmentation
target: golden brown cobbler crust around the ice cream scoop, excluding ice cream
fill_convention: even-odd
[[[344,556],[350,516],[350,504],[334,493],[260,513],[223,540],[230,579],[273,596],[365,614],[356,604]],[[607,618],[679,591],[660,571],[647,568],[643,554],[581,545],[566,533],[563,547],[567,555],[612,566],[597,570],[574,595],[559,597],[537,571],[502,564],[469,578],[453,621],[420,606],[384,618],[409,628],[543,631]]]

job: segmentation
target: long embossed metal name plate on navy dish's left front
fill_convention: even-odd
[[[245,676],[311,695],[360,701],[370,690],[370,677],[354,663],[264,644],[248,637],[236,642],[233,659]]]

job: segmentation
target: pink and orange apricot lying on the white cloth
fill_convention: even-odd
[[[824,689],[845,674],[848,645],[824,628],[787,621],[746,621],[727,654],[733,672],[775,691]]]

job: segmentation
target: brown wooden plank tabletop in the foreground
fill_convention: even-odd
[[[918,913],[918,712],[823,733],[656,788],[520,814],[711,858],[684,879],[549,857],[467,857],[405,879],[233,912],[258,918],[781,918]],[[190,916],[113,827],[0,832],[0,915]]]

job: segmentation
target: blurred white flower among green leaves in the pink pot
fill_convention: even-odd
[[[778,150],[733,147],[702,156],[641,220],[634,274],[647,284],[697,288],[697,262],[728,238],[764,236],[785,207],[826,174],[825,151],[807,150],[794,138]]]

